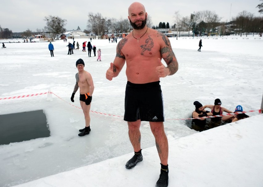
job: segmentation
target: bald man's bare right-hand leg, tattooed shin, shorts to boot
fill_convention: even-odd
[[[168,140],[163,122],[150,122],[152,134],[155,137],[156,148],[162,165],[168,165]]]

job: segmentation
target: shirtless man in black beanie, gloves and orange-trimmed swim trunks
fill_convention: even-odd
[[[92,100],[92,94],[94,91],[94,84],[91,74],[84,70],[84,66],[85,66],[84,61],[81,58],[78,59],[76,62],[76,67],[78,70],[78,73],[75,75],[76,84],[74,86],[74,90],[70,98],[70,100],[74,102],[74,95],[79,87],[80,105],[85,116],[85,128],[79,130],[79,132],[81,132],[78,134],[79,136],[84,136],[90,133],[90,105]]]

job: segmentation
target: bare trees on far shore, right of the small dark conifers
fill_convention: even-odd
[[[192,18],[192,19],[191,19]],[[174,14],[175,28],[177,31],[193,30],[194,34],[218,33],[219,35],[262,33],[263,17],[242,11],[230,22],[220,22],[215,12],[210,10],[198,11],[193,17],[181,17],[179,11]]]

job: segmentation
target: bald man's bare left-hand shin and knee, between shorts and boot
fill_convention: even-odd
[[[133,146],[135,152],[141,150],[140,125],[141,125],[140,120],[134,122],[128,122],[129,137],[130,137],[131,145]]]

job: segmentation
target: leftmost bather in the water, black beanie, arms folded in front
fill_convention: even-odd
[[[212,116],[213,113],[206,111],[203,109],[203,105],[199,103],[198,101],[194,101],[195,110],[192,113],[192,118],[197,117],[205,117],[205,116]],[[206,125],[206,118],[200,118],[200,119],[193,119],[192,123],[198,126],[205,126]]]

